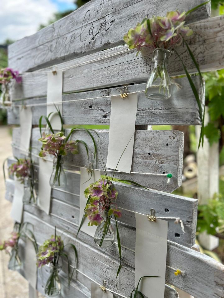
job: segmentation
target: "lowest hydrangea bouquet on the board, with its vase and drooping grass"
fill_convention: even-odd
[[[77,250],[76,247],[68,243],[67,245],[72,246],[72,249],[74,250],[76,260],[77,260]],[[37,254],[37,267],[41,268],[44,265],[50,266],[50,276],[49,279],[46,282],[45,285],[45,294],[53,297],[57,296],[61,292],[61,282],[59,278],[59,271],[61,269],[59,265],[59,261],[62,256],[66,258],[68,261],[68,283],[70,283],[70,280],[72,278],[72,275],[74,273],[74,270],[70,274],[70,263],[68,259],[68,255],[64,251],[64,242],[61,238],[61,236],[56,235],[56,228],[55,228],[55,234],[50,237],[50,239],[44,241],[44,244],[39,247],[39,251]]]

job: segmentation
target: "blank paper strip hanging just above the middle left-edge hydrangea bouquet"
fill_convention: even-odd
[[[28,155],[32,132],[32,109],[31,107],[20,110],[20,149],[21,153]]]

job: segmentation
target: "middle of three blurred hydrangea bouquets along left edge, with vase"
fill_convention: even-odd
[[[34,172],[31,159],[17,158],[17,161],[10,165],[9,174],[15,175],[18,181],[24,184],[24,204],[36,203],[36,192],[34,188]]]

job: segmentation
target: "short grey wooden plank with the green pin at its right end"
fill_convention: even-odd
[[[70,130],[66,130],[68,135]],[[99,135],[98,147],[104,163],[106,164],[109,130],[96,130]],[[95,135],[96,141],[97,136]],[[39,128],[32,130],[32,153],[38,154],[41,148]],[[80,144],[79,154],[68,154],[65,159],[65,168],[74,169],[74,166],[88,167],[89,162],[93,163],[94,146],[90,136],[83,130],[77,130],[71,136],[72,140],[83,140],[89,147],[91,154],[88,160],[84,145]],[[20,129],[13,129],[13,144],[19,144]],[[172,192],[181,185],[182,161],[183,161],[183,133],[178,130],[136,130],[134,138],[134,150],[132,159],[131,174],[116,172],[114,177],[133,180],[141,185],[157,190]],[[19,150],[13,148],[14,156],[19,156]],[[98,156],[98,158],[100,158]],[[100,159],[99,159],[100,160]],[[102,170],[101,160],[95,159],[93,169]],[[109,172],[109,176],[114,171]],[[138,173],[138,174],[136,174]],[[147,175],[168,174],[173,178],[167,184],[167,177]]]

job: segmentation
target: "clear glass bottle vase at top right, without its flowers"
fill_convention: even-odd
[[[154,68],[145,89],[145,95],[148,99],[164,100],[171,96],[171,83],[167,72],[170,53],[169,50],[163,48],[156,48],[153,51]]]

